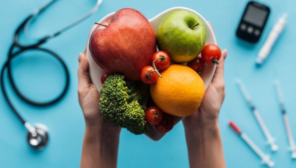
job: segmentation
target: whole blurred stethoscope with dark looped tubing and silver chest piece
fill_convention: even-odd
[[[5,69],[7,69],[7,76],[8,76],[8,80],[9,83],[11,84],[11,87],[13,89],[13,91],[26,103],[37,106],[37,107],[45,107],[45,106],[50,106],[55,104],[56,102],[60,101],[66,94],[68,88],[69,88],[69,83],[70,83],[70,75],[69,75],[69,70],[67,65],[65,64],[65,62],[63,61],[63,59],[56,54],[55,52],[46,49],[46,48],[41,48],[39,45],[47,42],[48,40],[55,38],[57,36],[59,36],[60,34],[62,34],[63,32],[67,31],[68,29],[74,27],[76,24],[82,22],[83,20],[85,20],[87,17],[89,17],[90,15],[92,15],[97,9],[98,7],[101,5],[102,0],[97,0],[95,6],[90,9],[86,14],[84,14],[83,16],[77,18],[74,22],[72,22],[71,24],[65,26],[64,28],[60,29],[59,31],[51,34],[51,35],[46,35],[45,37],[42,37],[40,39],[37,40],[37,42],[35,42],[34,44],[31,45],[23,45],[19,42],[19,34],[22,30],[27,29],[29,23],[36,17],[38,16],[40,13],[42,13],[48,6],[50,6],[54,1],[56,0],[50,0],[48,1],[46,4],[44,4],[43,6],[41,6],[40,8],[38,8],[34,13],[32,13],[31,15],[29,15],[20,25],[19,27],[16,29],[15,33],[14,33],[14,41],[10,46],[10,49],[8,51],[8,55],[7,55],[7,60],[4,63],[4,65],[1,68],[1,90],[3,92],[3,96],[7,102],[7,104],[9,105],[9,107],[11,108],[12,112],[16,115],[17,119],[27,128],[28,133],[27,133],[27,141],[29,143],[29,145],[34,148],[34,149],[38,149],[41,150],[43,149],[47,142],[48,142],[48,130],[47,127],[42,125],[42,124],[37,124],[35,126],[32,126],[27,120],[25,120],[20,113],[15,109],[15,107],[13,106],[13,104],[11,103],[9,97],[7,96],[7,92],[5,90],[5,86],[4,86],[4,71]],[[13,50],[15,48],[18,48],[18,50],[16,52],[13,52]],[[20,53],[26,52],[28,50],[38,50],[41,52],[46,52],[47,54],[53,56],[53,58],[57,59],[59,61],[59,63],[62,65],[63,70],[65,72],[65,76],[66,76],[66,83],[64,85],[63,90],[52,100],[49,101],[45,101],[45,102],[38,102],[35,100],[32,100],[28,97],[26,97],[16,86],[14,79],[12,78],[12,67],[10,65],[11,61],[13,58],[17,57]]]

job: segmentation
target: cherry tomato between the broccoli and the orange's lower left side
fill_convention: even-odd
[[[162,119],[162,111],[156,106],[145,110],[145,119],[150,125],[158,125]]]

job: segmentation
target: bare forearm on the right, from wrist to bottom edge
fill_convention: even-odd
[[[190,168],[226,168],[218,123],[186,128]]]

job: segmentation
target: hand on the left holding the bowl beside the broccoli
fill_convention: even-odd
[[[85,54],[79,54],[78,67],[78,99],[82,109],[86,128],[95,128],[96,131],[108,131],[112,134],[119,134],[120,127],[107,122],[99,108],[100,94],[89,75],[89,64]]]

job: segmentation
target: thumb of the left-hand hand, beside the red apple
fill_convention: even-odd
[[[78,88],[83,88],[91,84],[89,76],[89,64],[86,56],[79,53],[79,67],[78,67]]]

